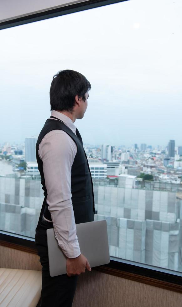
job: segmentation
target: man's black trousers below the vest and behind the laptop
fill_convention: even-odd
[[[41,221],[35,233],[35,245],[42,265],[41,307],[71,307],[78,275],[71,277],[67,274],[55,277],[49,275],[46,230],[52,228],[52,225],[47,221]]]

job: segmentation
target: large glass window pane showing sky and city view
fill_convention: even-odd
[[[53,75],[73,69],[92,86],[75,125],[110,255],[182,271],[181,14],[180,1],[136,0],[0,31],[1,230],[34,237],[35,144]]]

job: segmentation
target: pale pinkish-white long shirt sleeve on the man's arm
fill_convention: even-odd
[[[39,144],[55,237],[69,258],[81,254],[71,201],[71,166],[76,152],[75,142],[62,130],[50,131]]]

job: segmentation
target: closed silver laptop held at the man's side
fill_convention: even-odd
[[[110,262],[106,220],[76,224],[76,235],[81,254],[91,268]],[[67,257],[58,245],[54,228],[47,229],[47,244],[50,276],[66,274]]]

